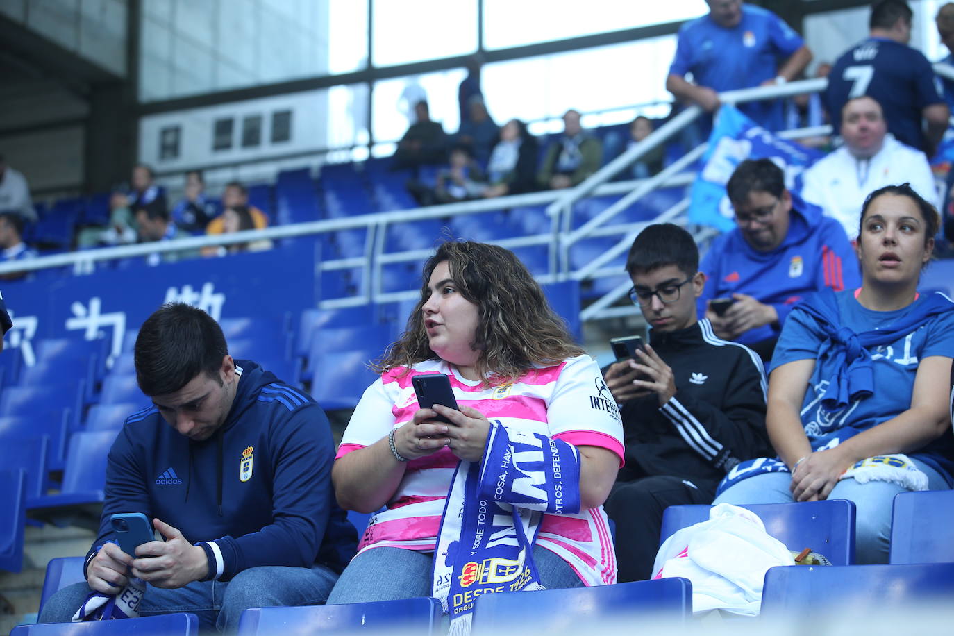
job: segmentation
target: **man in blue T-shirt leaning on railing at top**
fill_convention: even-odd
[[[679,29],[675,59],[666,90],[684,103],[714,113],[718,93],[784,84],[798,77],[812,59],[797,32],[769,10],[741,0],[706,0],[709,13]],[[781,67],[778,60],[784,59]],[[693,73],[693,82],[686,79]],[[739,104],[761,126],[778,131],[782,102],[773,99]],[[699,131],[700,140],[708,134]]]

